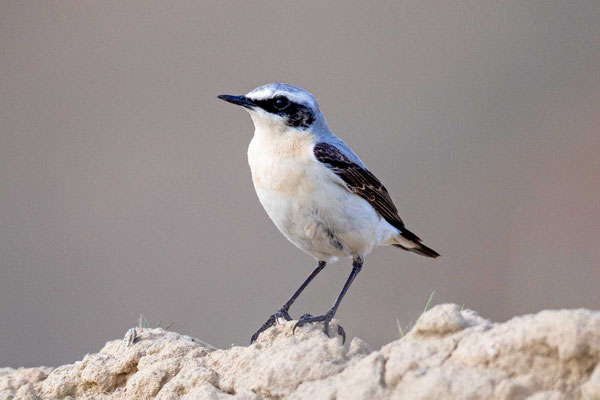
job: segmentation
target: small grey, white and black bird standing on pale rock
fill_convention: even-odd
[[[245,95],[219,95],[243,107],[254,122],[248,164],[256,194],[279,231],[317,262],[292,296],[252,335],[280,320],[328,263],[352,259],[352,271],[333,306],[322,315],[303,314],[293,327],[329,324],[364,258],[375,247],[392,245],[422,256],[439,254],[409,231],[388,190],[352,149],[335,136],[308,91],[284,83],[259,86]],[[344,328],[337,333],[346,340]]]

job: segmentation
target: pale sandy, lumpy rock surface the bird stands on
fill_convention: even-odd
[[[600,400],[600,312],[542,311],[494,324],[443,304],[373,351],[294,322],[217,350],[162,329],[128,331],[71,365],[0,368],[0,400]],[[331,334],[335,332],[332,324]]]

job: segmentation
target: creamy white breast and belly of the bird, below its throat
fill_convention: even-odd
[[[257,129],[248,162],[258,198],[277,228],[315,258],[366,255],[397,231],[314,158],[314,144],[307,132]]]

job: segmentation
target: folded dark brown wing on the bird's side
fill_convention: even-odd
[[[313,152],[317,160],[327,165],[344,180],[352,193],[367,200],[387,222],[404,231],[404,222],[398,215],[398,209],[385,186],[375,175],[350,161],[337,147],[331,144],[317,143]]]

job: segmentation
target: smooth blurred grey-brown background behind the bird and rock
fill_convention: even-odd
[[[397,338],[433,290],[494,320],[600,306],[598,1],[0,1],[0,57],[0,366],[81,359],[140,312],[248,343],[314,266],[216,99],[269,82],[311,91],[442,253],[368,257],[350,337]]]

